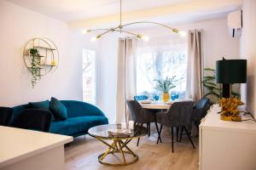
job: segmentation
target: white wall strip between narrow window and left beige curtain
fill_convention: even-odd
[[[97,54],[97,105],[113,123],[116,118],[118,37],[111,34],[102,37]]]

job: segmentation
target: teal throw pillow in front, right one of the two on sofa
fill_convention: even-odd
[[[49,110],[52,111],[56,121],[64,121],[67,119],[67,108],[58,99],[53,97],[50,99]]]

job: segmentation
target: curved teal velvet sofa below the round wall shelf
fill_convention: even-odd
[[[65,121],[51,122],[49,133],[58,133],[77,137],[88,132],[90,127],[108,124],[108,118],[94,105],[75,100],[60,100],[67,108]],[[14,118],[20,111],[29,109],[29,105],[18,105],[14,108]]]

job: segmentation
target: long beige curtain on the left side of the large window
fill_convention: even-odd
[[[118,55],[118,77],[116,96],[116,122],[128,122],[129,112],[126,99],[136,95],[136,59],[137,39],[120,38]]]

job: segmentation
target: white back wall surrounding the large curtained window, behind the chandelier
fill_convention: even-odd
[[[207,20],[194,24],[177,26],[181,30],[204,30],[205,67],[215,68],[215,62],[226,59],[239,58],[239,39],[233,39],[228,30],[227,20]],[[162,27],[136,29],[135,32],[149,36],[170,35]],[[88,35],[89,39],[93,35]],[[99,40],[98,47],[98,106],[107,114],[109,122],[115,122],[116,115],[116,80],[118,59],[118,36],[108,34]],[[150,41],[150,40],[149,40]],[[94,43],[94,42],[91,42]]]

